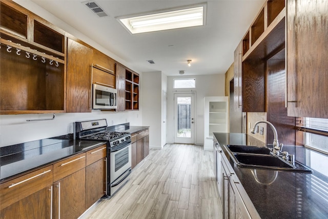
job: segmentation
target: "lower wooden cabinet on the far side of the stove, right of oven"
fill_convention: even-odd
[[[131,136],[132,168],[149,155],[149,129],[142,130]]]

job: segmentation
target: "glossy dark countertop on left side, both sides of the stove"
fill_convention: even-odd
[[[110,128],[110,127],[108,127]],[[135,133],[148,126],[113,126],[111,131]],[[0,182],[20,173],[49,165],[63,158],[83,153],[104,144],[101,141],[73,140],[73,135],[45,138],[0,147]]]

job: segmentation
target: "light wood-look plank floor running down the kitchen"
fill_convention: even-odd
[[[167,144],[151,149],[112,198],[80,218],[222,218],[213,152]]]

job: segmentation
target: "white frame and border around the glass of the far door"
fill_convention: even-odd
[[[176,106],[176,97],[181,94],[181,96],[192,96],[192,118],[193,118],[193,123],[191,123],[191,137],[186,138],[186,137],[177,137],[177,106]],[[180,143],[180,144],[195,144],[195,136],[196,136],[196,120],[195,120],[195,115],[196,115],[196,92],[173,92],[173,142],[174,143]]]

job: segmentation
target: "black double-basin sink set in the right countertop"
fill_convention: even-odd
[[[239,167],[287,170],[294,172],[312,173],[313,171],[304,165],[295,162],[295,166],[282,158],[271,153],[267,147],[245,146],[245,145],[224,145],[229,156]]]

